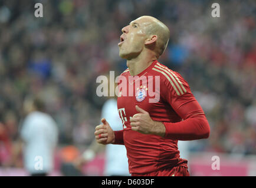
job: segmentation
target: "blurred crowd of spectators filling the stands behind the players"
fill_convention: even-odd
[[[43,18],[34,16],[37,2]],[[87,146],[107,99],[96,95],[96,78],[126,69],[121,29],[152,15],[170,29],[159,61],[188,81],[211,126],[209,139],[192,142],[191,150],[255,155],[256,3],[219,1],[219,18],[211,16],[212,3],[0,1],[0,139],[5,129],[17,140],[25,98],[40,95],[58,123],[59,144]]]

